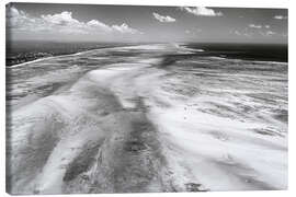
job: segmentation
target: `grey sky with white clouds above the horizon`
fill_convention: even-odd
[[[10,3],[12,40],[287,43],[287,10]]]

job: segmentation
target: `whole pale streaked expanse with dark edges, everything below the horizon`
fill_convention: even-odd
[[[283,45],[12,47],[9,190],[286,189],[287,71]]]

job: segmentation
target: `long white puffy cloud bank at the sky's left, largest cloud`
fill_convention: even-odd
[[[26,32],[48,32],[60,34],[143,34],[126,23],[107,25],[99,20],[81,22],[72,18],[72,12],[62,11],[56,14],[31,16],[14,7],[7,10],[7,26]]]

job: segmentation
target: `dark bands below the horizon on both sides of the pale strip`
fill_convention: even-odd
[[[116,46],[130,46],[145,43],[58,43],[22,40],[7,43],[7,66],[19,65],[39,58],[70,55],[84,50]],[[228,44],[228,43],[185,43],[190,48],[205,50],[200,56],[282,61],[287,62],[287,45],[276,44]]]

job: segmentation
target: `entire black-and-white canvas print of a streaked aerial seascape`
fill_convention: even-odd
[[[7,192],[287,189],[287,9],[7,4]]]

